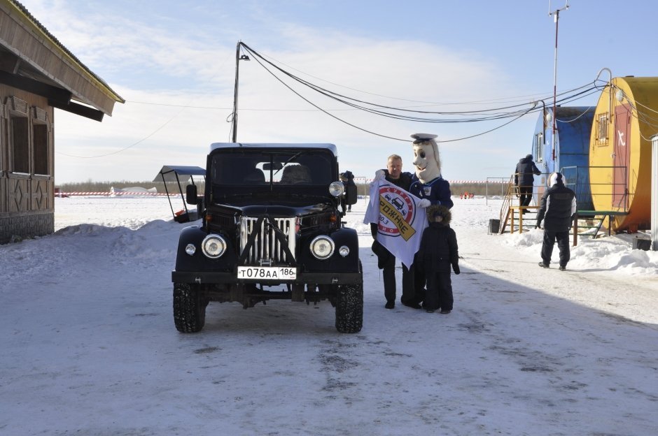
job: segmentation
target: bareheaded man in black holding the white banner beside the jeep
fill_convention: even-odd
[[[379,173],[381,171],[381,173]],[[386,163],[386,170],[379,170],[377,177],[383,174],[387,182],[394,184],[397,187],[409,191],[411,184],[411,175],[409,173],[402,173],[402,158],[397,154],[391,154]],[[389,252],[384,245],[377,242],[377,224],[370,224],[370,231],[374,242],[372,243],[372,252],[377,255],[377,267],[384,270],[384,298],[386,298],[386,309],[393,309],[395,307],[395,256]],[[413,270],[409,270],[402,264],[402,297],[400,303],[409,305],[414,295],[414,274]],[[420,306],[419,306],[420,308]]]

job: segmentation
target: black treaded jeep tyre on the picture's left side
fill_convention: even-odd
[[[208,299],[200,286],[174,283],[174,324],[181,333],[197,333],[206,322]]]

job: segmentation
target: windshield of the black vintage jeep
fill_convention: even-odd
[[[211,154],[211,181],[215,201],[235,203],[236,196],[330,196],[335,182],[335,157],[325,149],[224,148]],[[230,201],[229,201],[230,199]]]

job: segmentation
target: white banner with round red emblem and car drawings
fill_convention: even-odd
[[[421,199],[386,180],[370,184],[370,203],[363,222],[377,223],[377,241],[410,268],[428,226]]]

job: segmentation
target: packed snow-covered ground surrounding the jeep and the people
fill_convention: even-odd
[[[658,252],[582,238],[545,270],[542,231],[488,235],[500,201],[454,201],[449,315],[384,309],[360,201],[360,333],[273,300],[183,335],[167,198],[55,198],[55,234],[0,246],[0,434],[658,434]]]

